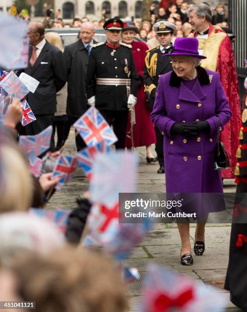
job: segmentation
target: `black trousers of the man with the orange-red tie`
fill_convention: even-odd
[[[19,135],[23,136],[33,136],[39,134],[41,131],[52,125],[54,114],[47,114],[47,115],[36,115],[36,120],[29,123],[25,127],[21,124],[18,124],[17,131]],[[50,151],[55,151],[55,142],[54,142],[54,134],[51,138],[51,146]]]

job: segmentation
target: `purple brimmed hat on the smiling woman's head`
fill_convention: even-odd
[[[207,57],[199,55],[198,44],[199,42],[196,38],[176,38],[172,53],[164,54],[163,56],[186,55],[199,59],[207,59]]]

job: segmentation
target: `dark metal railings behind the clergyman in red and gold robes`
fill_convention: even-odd
[[[247,1],[229,0],[229,27],[233,30],[236,40],[233,43],[234,56],[238,74],[239,93],[242,103],[245,89],[244,79],[247,69],[244,68],[244,59],[247,59]]]

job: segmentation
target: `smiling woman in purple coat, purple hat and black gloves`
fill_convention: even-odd
[[[166,192],[223,193],[220,171],[214,170],[217,116],[223,130],[231,111],[219,74],[199,66],[206,57],[199,55],[196,38],[177,38],[165,56],[173,71],[160,76],[151,120],[164,133]],[[205,223],[196,224],[196,255],[205,250]],[[178,221],[177,227],[181,264],[192,265],[189,223]]]

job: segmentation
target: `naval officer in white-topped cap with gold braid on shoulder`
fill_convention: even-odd
[[[154,105],[160,75],[172,70],[170,58],[165,58],[162,55],[171,53],[171,40],[173,35],[176,35],[176,28],[174,24],[161,20],[154,24],[154,31],[160,45],[146,51],[144,67],[144,84],[150,109]],[[164,173],[163,135],[157,127],[154,128],[156,135],[155,151],[160,164],[160,169],[157,172]]]

